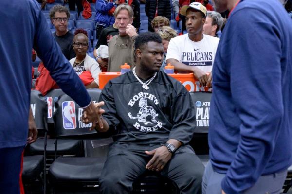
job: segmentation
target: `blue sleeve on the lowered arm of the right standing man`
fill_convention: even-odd
[[[279,134],[281,33],[271,16],[256,9],[241,9],[228,22],[234,34],[229,39],[231,96],[241,125],[237,152],[221,186],[227,194],[239,194],[262,175]]]

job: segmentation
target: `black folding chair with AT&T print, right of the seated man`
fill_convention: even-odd
[[[195,150],[195,153],[204,164],[209,161],[209,146],[208,146],[208,129],[209,129],[209,110],[211,101],[211,92],[190,92],[192,101],[195,106],[196,123],[194,123],[195,133],[190,141],[190,145]]]

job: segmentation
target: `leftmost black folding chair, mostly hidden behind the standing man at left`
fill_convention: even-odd
[[[42,182],[42,191],[46,194],[47,102],[39,91],[31,90],[30,103],[37,130],[39,134],[43,132],[44,141],[40,155],[25,156],[23,158],[22,179],[26,189],[30,188],[34,182],[37,182],[37,185],[39,185],[38,182]]]

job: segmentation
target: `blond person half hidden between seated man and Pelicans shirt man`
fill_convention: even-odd
[[[164,48],[163,62],[162,62],[162,65],[160,67],[160,70],[164,71],[164,67],[166,65],[165,58],[166,58],[168,44],[169,44],[169,41],[171,38],[174,38],[177,36],[177,32],[169,26],[162,26],[161,28],[158,29],[158,34],[162,39],[162,44],[163,44],[163,48]]]

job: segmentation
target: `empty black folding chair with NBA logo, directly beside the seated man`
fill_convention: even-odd
[[[98,101],[100,89],[87,89],[91,99]],[[106,138],[107,133],[89,131],[91,124],[81,121],[82,108],[80,108],[68,95],[63,95],[56,102],[55,137],[59,139],[92,140]],[[59,146],[55,144],[55,149]],[[54,191],[73,189],[89,189],[96,191],[99,177],[106,156],[91,157],[58,157],[49,169],[48,176]]]

